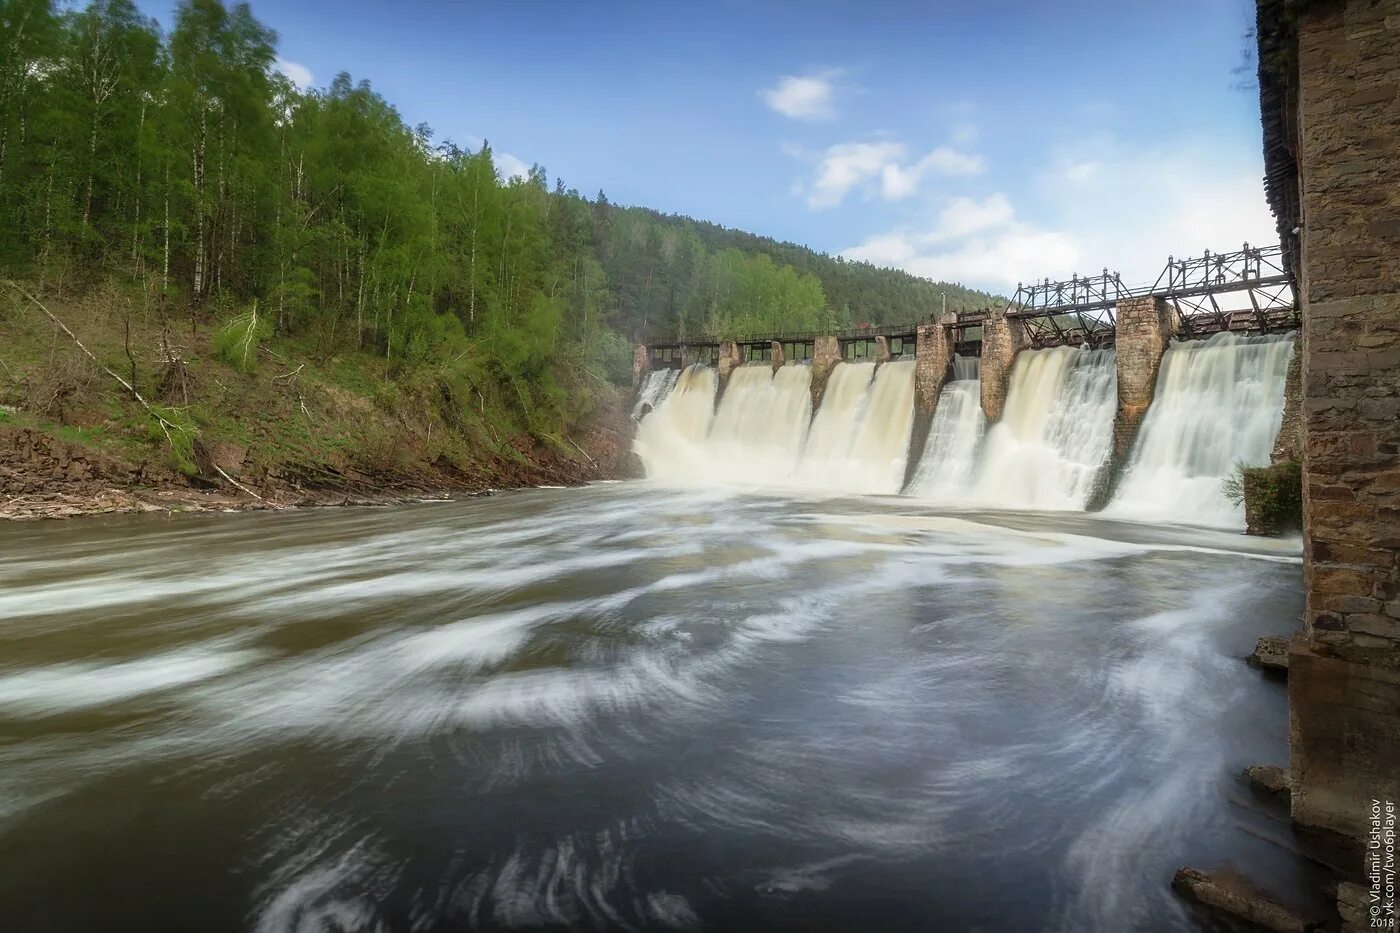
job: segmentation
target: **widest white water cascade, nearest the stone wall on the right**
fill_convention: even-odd
[[[1239,462],[1270,462],[1292,353],[1291,333],[1173,343],[1106,511],[1243,528],[1243,510],[1225,499],[1221,482]]]

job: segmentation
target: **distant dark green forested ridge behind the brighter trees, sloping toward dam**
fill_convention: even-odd
[[[626,265],[615,270],[623,282],[643,279],[648,272],[655,275],[657,268],[665,269],[665,254],[659,244],[679,237],[693,238],[714,252],[738,249],[746,255],[763,255],[774,263],[811,275],[820,283],[825,297],[825,315],[819,326],[850,326],[864,322],[909,324],[928,314],[937,314],[945,307],[945,301],[948,311],[972,311],[1002,300],[962,284],[931,282],[899,269],[883,269],[868,262],[830,256],[798,244],[721,227],[706,220],[662,214],[645,207],[633,207],[627,213],[633,216],[633,223],[651,227],[652,233],[650,249],[629,251]],[[634,241],[645,242],[641,238]]]

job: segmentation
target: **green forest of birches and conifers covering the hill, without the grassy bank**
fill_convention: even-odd
[[[428,371],[532,433],[629,384],[637,336],[914,321],[944,298],[990,300],[615,206],[540,165],[507,179],[489,144],[409,126],[368,81],[298,88],[274,62],[246,4],[186,0],[165,31],[130,0],[0,0],[0,276],[71,304],[78,333],[91,301],[77,297],[106,296],[108,318],[125,308],[108,331],[123,331],[133,380],[134,319],[147,343],[188,333],[239,370],[281,353],[381,381]],[[22,359],[0,378],[32,402]]]

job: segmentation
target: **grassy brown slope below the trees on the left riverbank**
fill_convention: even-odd
[[[532,436],[518,401],[484,382],[469,405],[431,370],[388,378],[382,357],[322,357],[307,343],[276,338],[260,345],[251,371],[241,371],[213,353],[211,324],[192,326],[188,308],[162,311],[111,287],[83,297],[50,290],[43,301],[102,366],[132,380],[134,357],[137,388],[153,405],[174,408],[193,427],[195,443],[172,448],[115,378],[10,293],[0,296],[0,426],[165,466],[175,481],[217,481],[214,465],[249,485],[330,488],[393,479],[486,488],[608,472],[592,468],[571,441],[588,445],[584,434],[596,420],[589,415],[615,410],[619,389],[581,374],[559,374],[580,399],[574,417],[550,431],[536,424]]]

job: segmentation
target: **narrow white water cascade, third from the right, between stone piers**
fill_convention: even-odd
[[[938,396],[918,472],[909,493],[935,502],[958,502],[973,476],[977,445],[987,419],[981,413],[981,360],[953,357],[953,374]]]

